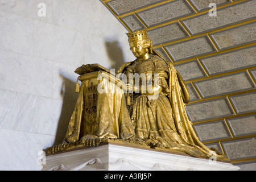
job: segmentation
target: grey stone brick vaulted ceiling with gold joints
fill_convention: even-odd
[[[100,1],[127,31],[148,28],[153,48],[183,76],[201,141],[234,164],[256,162],[256,1]]]

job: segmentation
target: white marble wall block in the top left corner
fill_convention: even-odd
[[[43,3],[43,6],[40,3]],[[1,0],[0,10],[52,23],[52,4],[53,0]],[[42,8],[45,8],[45,16],[40,15]]]

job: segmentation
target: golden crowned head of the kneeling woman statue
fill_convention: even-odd
[[[152,53],[152,40],[147,36],[147,30],[127,33],[130,49],[134,56],[139,58],[146,53]]]

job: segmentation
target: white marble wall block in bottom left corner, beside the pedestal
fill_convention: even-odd
[[[42,169],[39,151],[53,144],[55,137],[0,129],[0,170],[34,171]]]

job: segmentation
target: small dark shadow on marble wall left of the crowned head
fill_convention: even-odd
[[[115,72],[124,63],[122,47],[117,41],[105,42],[106,52],[110,60],[110,68],[115,69]]]

